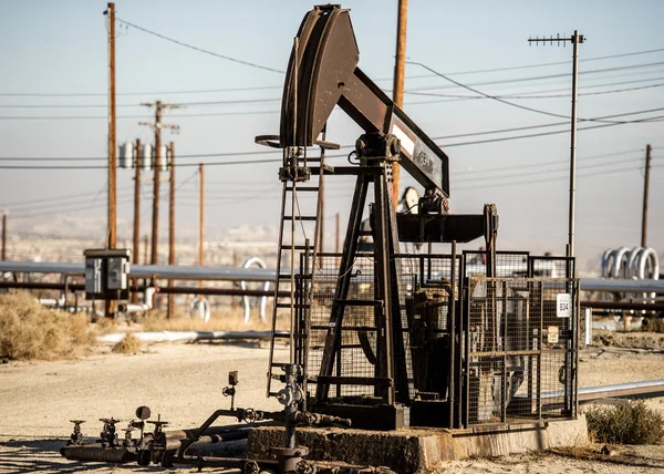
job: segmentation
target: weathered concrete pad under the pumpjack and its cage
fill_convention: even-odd
[[[251,430],[249,458],[269,458],[282,445],[284,430]],[[502,456],[588,442],[585,418],[556,422],[477,426],[467,430],[401,429],[394,431],[302,427],[297,442],[310,449],[308,458],[386,466],[398,473],[426,473],[442,461]]]

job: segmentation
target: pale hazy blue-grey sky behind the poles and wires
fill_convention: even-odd
[[[106,2],[2,0],[1,4],[0,166],[104,165],[101,158],[106,154],[107,50],[102,13]],[[120,19],[180,41],[283,70],[292,38],[311,6],[308,1],[120,0],[116,11]],[[360,65],[388,91],[394,64],[396,1],[351,1],[343,7],[352,9]],[[579,117],[649,110],[657,111],[614,120],[662,117],[663,18],[664,2],[657,0],[411,0],[406,54],[485,93],[569,116],[571,45],[529,47],[527,40],[529,35],[570,35],[578,29],[587,38],[580,47]],[[181,131],[177,135],[165,132],[164,140],[175,141],[178,155],[267,154],[181,157],[178,163],[279,157],[255,145],[253,136],[278,133],[281,73],[185,49],[122,24],[118,21],[116,53],[118,142],[136,137],[143,142],[152,140],[152,132],[137,124],[139,120],[149,120],[147,110],[138,105],[141,102],[236,101],[191,104],[167,112],[164,122],[178,123]],[[557,64],[542,65],[549,63]],[[506,68],[513,69],[496,71]],[[229,91],[238,87],[255,89]],[[499,247],[563,251],[568,231],[569,133],[475,142],[566,131],[569,123],[564,118],[477,99],[477,94],[453,86],[417,65],[406,69],[405,97],[405,111],[432,137],[561,123],[511,133],[437,138],[436,142],[450,157],[452,212],[479,213],[484,203],[496,203],[501,218]],[[579,127],[595,125],[600,124],[587,122]],[[354,143],[361,133],[341,111],[333,114],[328,130],[328,140],[342,145]],[[639,244],[646,143],[654,148],[649,243],[664,254],[662,132],[663,124],[657,121],[579,132],[578,255]],[[21,157],[96,159],[4,159]],[[278,166],[278,163],[208,166],[206,226],[209,235],[220,235],[240,224],[277,226]],[[183,230],[196,225],[195,172],[194,166],[177,168],[177,182],[183,183],[178,190],[177,219]],[[132,176],[133,171],[118,172],[118,230],[124,235],[131,233],[127,223],[133,215]],[[61,221],[66,216],[103,219],[105,183],[104,169],[2,168],[0,209],[8,209],[10,221],[17,226],[19,220],[24,226],[24,223],[39,220]],[[328,183],[328,215],[340,212],[345,221],[353,182],[336,177]],[[408,184],[408,179],[403,184]],[[143,189],[146,196],[151,192],[147,184]],[[68,197],[72,195],[74,197]],[[44,200],[32,203],[37,199]],[[146,233],[151,214],[147,200],[144,203]],[[164,200],[163,221],[166,207]],[[58,212],[60,214],[55,214]],[[31,215],[35,216],[27,217]],[[330,231],[332,224],[328,220]]]

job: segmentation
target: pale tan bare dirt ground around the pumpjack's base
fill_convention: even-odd
[[[580,354],[581,387],[664,379],[663,346],[624,347],[627,337],[633,334],[595,337],[600,346]],[[660,340],[662,334],[647,337]],[[610,346],[603,346],[606,343]],[[102,425],[100,418],[128,420],[143,404],[152,408],[153,418],[160,414],[172,427],[196,426],[216,409],[229,406],[221,390],[230,370],[239,371],[236,405],[278,410],[274,399],[264,398],[267,358],[267,347],[258,343],[159,343],[136,356],[112,353],[102,347],[80,360],[1,364],[0,472],[164,472],[136,465],[81,465],[64,460],[58,450],[71,433],[69,420],[86,420],[83,433],[95,436]],[[649,405],[664,412],[664,399],[650,400]],[[601,447],[449,462],[439,472],[664,472],[663,446],[612,447],[612,455],[599,454]],[[575,458],[580,454],[584,458]]]

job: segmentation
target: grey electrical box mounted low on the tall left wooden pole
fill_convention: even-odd
[[[128,298],[132,250],[87,249],[85,256],[85,299]]]

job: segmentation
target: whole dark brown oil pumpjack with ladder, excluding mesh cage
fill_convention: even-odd
[[[432,387],[416,387],[413,377],[413,354],[409,350],[411,317],[406,315],[400,243],[467,243],[479,237],[486,240],[488,277],[494,275],[498,215],[495,205],[485,205],[477,215],[448,214],[449,158],[381,89],[357,66],[359,49],[351,24],[350,10],[340,6],[318,6],[302,21],[294,39],[281,104],[281,124],[278,136],[261,135],[256,142],[283,150],[283,165],[279,177],[283,183],[281,226],[279,239],[278,278],[276,295],[286,285],[290,297],[277,298],[272,315],[273,338],[268,372],[270,387],[279,379],[279,368],[284,363],[304,367],[302,384],[308,388],[303,404],[309,410],[329,414],[345,413],[356,426],[398,427],[407,423],[404,409],[414,406],[421,394]],[[330,166],[323,158],[308,156],[308,147],[320,146],[336,150],[339,145],[326,142],[326,122],[332,110],[339,105],[364,131],[356,143],[359,166]],[[319,137],[321,140],[319,140]],[[401,166],[419,183],[425,193],[419,198],[416,214],[396,214],[395,197],[391,192],[392,165]],[[312,166],[314,164],[315,166]],[[320,286],[320,268],[315,269],[319,248],[320,193],[317,213],[299,213],[299,193],[318,193],[328,175],[356,176],[343,254],[340,258],[334,285],[334,297],[329,303],[329,317],[322,356],[312,359],[312,311],[315,288]],[[318,186],[303,183],[318,179]],[[373,200],[369,193],[373,185]],[[359,254],[357,243],[363,234],[362,220],[370,200],[371,236],[374,246],[373,295],[370,299],[353,298],[353,265]],[[290,209],[289,209],[290,208]],[[314,243],[298,235],[303,223],[314,223]],[[290,224],[290,234],[288,231]],[[300,238],[300,241],[298,241]],[[290,251],[290,272],[282,271],[282,254]],[[310,256],[309,270],[297,275],[294,255],[301,251]],[[456,260],[456,259],[455,259]],[[454,278],[447,285],[447,297],[456,301]],[[317,271],[319,270],[319,271]],[[449,276],[448,276],[449,277]],[[303,282],[297,290],[298,281]],[[456,305],[453,302],[452,306]],[[344,375],[342,370],[342,328],[355,310],[372,312],[373,324],[357,329],[355,337],[364,348],[366,359],[373,365],[369,377]],[[289,361],[274,356],[274,341],[280,336],[277,328],[279,311],[290,309]],[[454,310],[448,311],[454,319]],[[452,321],[449,322],[452,324]],[[449,326],[448,324],[448,326]],[[443,336],[449,338],[449,334]],[[448,341],[449,342],[449,341]],[[446,347],[454,350],[454,343]],[[459,346],[459,344],[457,344]],[[320,346],[319,346],[320,349]],[[459,348],[457,347],[457,350]],[[445,356],[445,354],[439,354]],[[459,356],[460,359],[460,356]],[[427,363],[446,364],[445,358]],[[438,406],[449,413],[445,403],[453,400],[449,377],[439,380],[434,391]],[[452,375],[453,377],[453,375]],[[427,382],[419,383],[421,385]],[[430,383],[428,383],[430,385]],[[372,387],[370,396],[343,396],[343,387]],[[331,395],[336,388],[336,396]],[[346,390],[346,393],[352,390]],[[376,422],[383,420],[384,423]],[[363,422],[366,421],[366,422]]]

